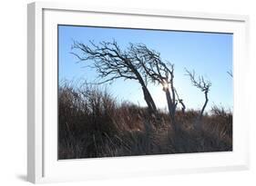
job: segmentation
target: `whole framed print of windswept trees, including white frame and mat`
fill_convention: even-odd
[[[28,5],[28,181],[248,169],[248,22]]]

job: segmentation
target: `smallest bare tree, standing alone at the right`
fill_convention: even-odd
[[[204,96],[205,96],[205,102],[204,102],[204,104],[200,110],[200,114],[195,122],[195,128],[200,129],[202,115],[207,106],[207,103],[209,102],[208,93],[210,91],[211,83],[210,83],[210,81],[206,81],[203,76],[198,76],[198,78],[197,78],[195,71],[189,72],[187,69],[185,69],[185,70],[186,70],[187,75],[189,75],[191,83],[195,87],[200,89],[200,91],[203,92]]]

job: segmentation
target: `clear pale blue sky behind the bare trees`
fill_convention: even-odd
[[[158,51],[162,59],[174,64],[174,85],[187,108],[200,109],[204,94],[192,86],[184,68],[195,70],[212,83],[206,110],[210,110],[213,104],[233,110],[233,80],[227,73],[232,70],[232,34],[58,25],[59,81],[84,79],[95,82],[97,78],[95,71],[83,68],[85,64],[77,63],[77,58],[70,54],[74,40],[84,44],[93,40],[97,44],[113,39],[122,49],[129,43],[146,44]],[[162,88],[152,84],[148,88],[157,106],[167,108]],[[147,105],[139,84],[134,80],[119,79],[108,84],[108,90],[118,101]]]

